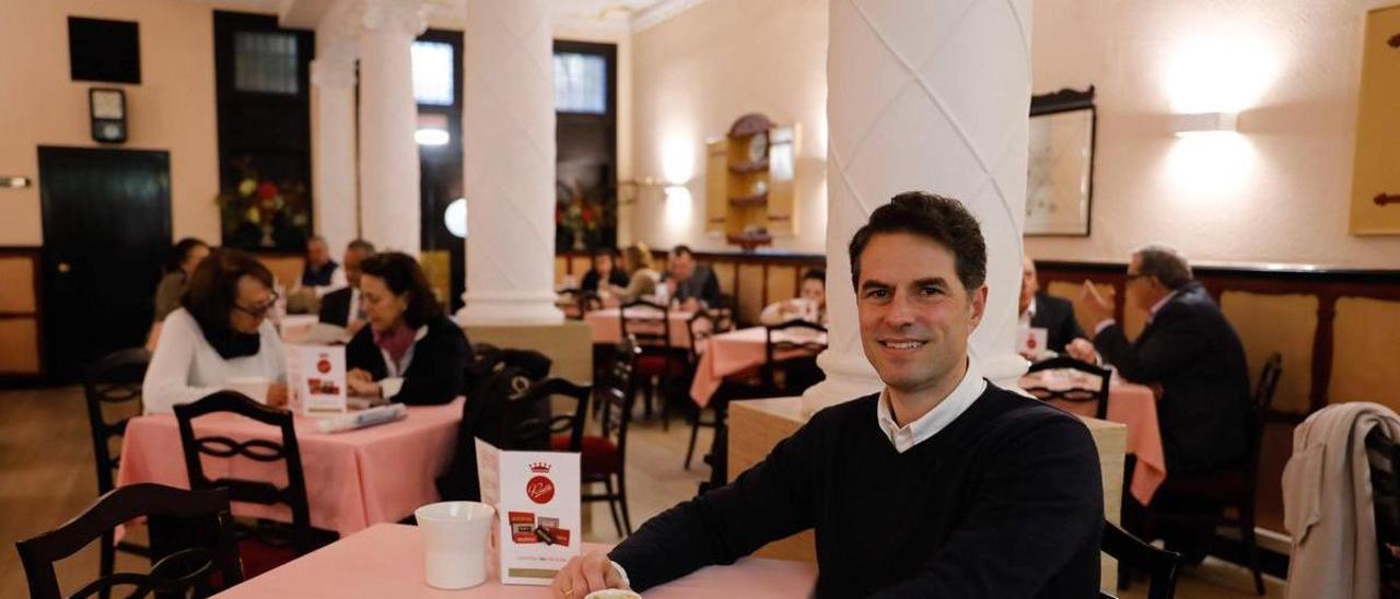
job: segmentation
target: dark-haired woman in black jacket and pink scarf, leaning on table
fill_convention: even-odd
[[[410,406],[448,403],[465,392],[472,346],[412,256],[388,252],[360,263],[360,301],[370,326],[346,347],[350,395]]]

